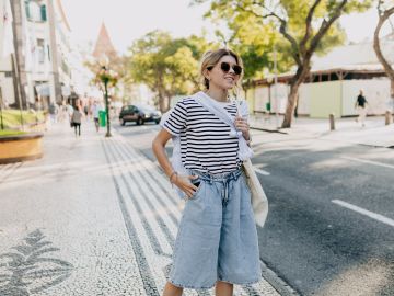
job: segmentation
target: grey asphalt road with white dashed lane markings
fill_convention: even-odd
[[[154,160],[157,125],[117,127]],[[301,295],[394,295],[394,150],[254,132],[260,258]],[[171,147],[169,148],[171,153]]]

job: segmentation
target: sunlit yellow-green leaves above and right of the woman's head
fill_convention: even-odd
[[[210,10],[206,16],[213,21],[225,20],[231,30],[230,46],[237,49],[246,61],[245,78],[258,78],[262,71],[273,70],[274,44],[278,49],[279,71],[288,71],[297,65],[294,56],[301,54],[300,45],[306,33],[306,18],[315,0],[192,0],[193,4],[204,2],[210,2]],[[310,48],[322,24],[334,15],[340,2],[322,0],[315,8],[311,34],[305,41],[306,49]],[[363,12],[372,3],[373,0],[350,0],[341,13]],[[286,23],[286,32],[293,38],[296,45],[279,33],[282,21]],[[345,38],[344,30],[336,22],[322,36],[314,50],[320,55],[325,54],[343,44]],[[255,50],[255,54],[251,54],[251,50]]]

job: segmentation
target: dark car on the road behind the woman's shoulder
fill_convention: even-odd
[[[147,122],[160,123],[161,112],[152,106],[126,105],[123,106],[119,114],[119,123],[125,125],[127,122],[135,122],[142,125]]]

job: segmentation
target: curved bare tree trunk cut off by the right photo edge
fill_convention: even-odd
[[[379,15],[379,21],[373,34],[373,49],[376,54],[376,57],[379,59],[379,61],[382,64],[384,71],[386,72],[387,77],[390,78],[391,81],[391,90],[390,90],[390,95],[392,99],[392,103],[394,104],[394,69],[393,66],[391,65],[391,62],[387,60],[387,58],[384,56],[382,48],[381,48],[381,44],[380,44],[380,32],[382,26],[384,25],[384,23],[386,21],[390,21],[390,16],[392,16],[394,14],[394,1],[384,1],[384,0],[379,0],[378,1],[378,15]]]

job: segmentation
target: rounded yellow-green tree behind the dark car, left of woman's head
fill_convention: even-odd
[[[171,98],[198,89],[198,61],[208,47],[202,37],[173,38],[165,32],[150,32],[129,48],[128,76],[158,93],[159,107],[165,112]]]

